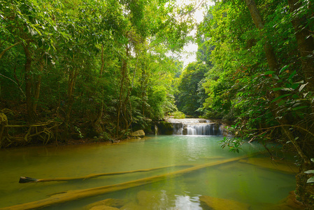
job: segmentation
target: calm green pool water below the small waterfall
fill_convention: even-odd
[[[0,151],[0,208],[42,200],[66,190],[79,190],[132,181],[183,168],[151,172],[101,176],[94,179],[20,184],[20,176],[36,179],[76,177],[107,172],[124,172],[169,165],[204,164],[245,153],[263,151],[257,144],[243,145],[240,154],[220,148],[222,137],[158,136],[113,145],[13,148]],[[201,209],[199,196],[208,195],[236,200],[259,209],[261,204],[276,204],[294,190],[293,174],[259,168],[241,162],[169,178],[157,183],[90,197],[45,209],[84,209],[85,205],[106,198],[136,202],[138,192],[147,191],[150,200],[145,209]]]

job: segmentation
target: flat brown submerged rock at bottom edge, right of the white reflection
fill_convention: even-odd
[[[210,197],[202,195],[199,197],[201,207],[203,209],[215,209],[215,210],[245,210],[250,209],[249,204],[237,202],[234,200],[227,200],[218,197]]]

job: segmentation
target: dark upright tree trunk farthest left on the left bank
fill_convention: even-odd
[[[27,104],[27,116],[29,123],[35,123],[36,122],[36,114],[34,113],[33,109],[33,99],[31,95],[31,85],[32,85],[32,79],[31,79],[31,52],[29,52],[29,45],[22,45],[26,57],[26,62],[24,65],[24,71],[25,71],[25,95],[26,95],[26,104]]]

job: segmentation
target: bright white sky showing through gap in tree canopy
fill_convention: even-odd
[[[183,6],[185,4],[189,4],[189,3],[197,3],[197,6],[199,6],[200,3],[206,3],[213,5],[213,1],[210,0],[177,0],[177,3],[179,6]],[[203,19],[204,19],[204,12],[205,9],[202,6],[199,6],[197,8],[197,10],[194,13],[194,18],[197,21],[197,23],[200,23]],[[194,36],[197,33],[196,30],[193,30],[190,32],[190,35]],[[195,62],[197,61],[197,44],[196,43],[189,43],[187,45],[185,45],[185,47],[183,48],[184,51],[189,52],[187,54],[181,54],[182,58],[180,59],[181,61],[183,61],[183,66],[187,66],[187,64],[191,63],[191,62]]]

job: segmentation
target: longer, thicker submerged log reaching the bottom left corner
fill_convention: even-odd
[[[252,154],[252,155],[256,155]],[[259,154],[259,153],[258,153]],[[137,179],[134,181],[127,181],[124,183],[118,183],[118,184],[114,184],[114,185],[110,185],[110,186],[102,186],[102,187],[97,187],[97,188],[89,188],[89,189],[85,189],[85,190],[69,190],[66,192],[61,192],[61,193],[57,193],[55,195],[52,195],[51,197],[48,197],[46,199],[43,200],[38,200],[35,202],[29,202],[29,203],[25,203],[25,204],[17,204],[15,206],[11,206],[11,207],[4,207],[1,208],[2,210],[8,210],[8,209],[14,209],[14,210],[24,210],[24,209],[38,209],[38,208],[43,208],[43,207],[49,207],[51,205],[55,205],[55,204],[62,204],[64,202],[70,202],[73,200],[79,200],[82,198],[86,198],[86,197],[92,197],[92,196],[96,196],[96,195],[103,195],[105,193],[113,193],[115,191],[118,190],[124,190],[127,188],[134,188],[137,186],[143,186],[149,183],[155,183],[157,181],[162,181],[164,179],[169,179],[169,178],[173,178],[175,176],[180,176],[182,174],[187,174],[190,172],[194,172],[198,169],[203,169],[205,167],[212,167],[215,165],[222,165],[224,163],[227,162],[234,162],[237,160],[241,160],[244,158],[248,158],[252,155],[243,155],[241,157],[237,157],[237,158],[231,158],[231,159],[227,159],[227,160],[221,160],[221,161],[216,161],[216,162],[210,162],[210,163],[206,163],[203,165],[197,165],[195,167],[190,167],[187,169],[182,169],[176,172],[170,172],[167,174],[161,174],[161,175],[157,175],[157,176],[150,176],[147,178],[143,178],[143,179]]]

